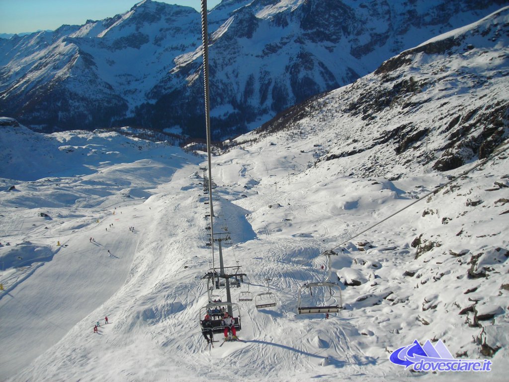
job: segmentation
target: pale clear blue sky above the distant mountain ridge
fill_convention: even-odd
[[[140,0],[0,0],[0,33],[55,30],[63,24],[84,24],[127,12]],[[201,0],[158,0],[201,9]],[[220,0],[208,0],[214,8]]]

